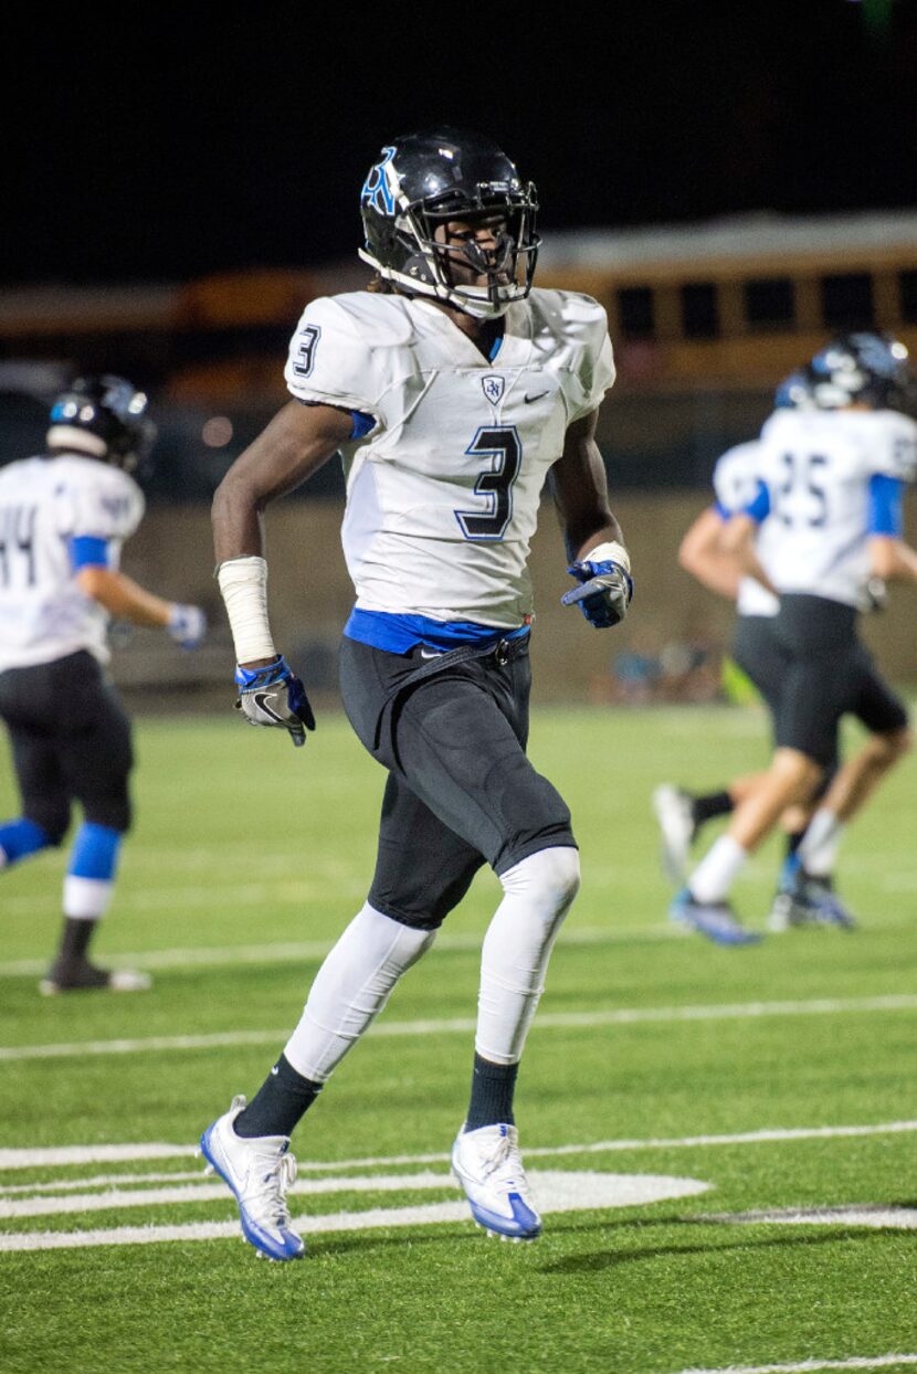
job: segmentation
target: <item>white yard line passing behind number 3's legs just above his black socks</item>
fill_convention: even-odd
[[[799,1002],[738,1002],[685,1007],[617,1007],[610,1011],[547,1011],[532,1029],[561,1030],[593,1026],[643,1025],[678,1021],[737,1021],[769,1017],[850,1015],[873,1011],[914,1011],[917,993],[888,993],[879,998],[813,998]],[[373,1036],[466,1035],[476,1028],[474,1017],[423,1021],[382,1021]],[[184,1052],[230,1046],[280,1046],[287,1030],[220,1030],[212,1035],[144,1036],[118,1040],[74,1040],[63,1044],[22,1044],[0,1047],[0,1062],[22,1059],[73,1059],[88,1055],[147,1054],[150,1051]]]

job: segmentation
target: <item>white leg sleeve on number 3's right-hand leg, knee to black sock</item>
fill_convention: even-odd
[[[492,1063],[517,1063],[544,991],[544,970],[579,890],[579,853],[539,849],[500,878],[503,900],[484,937],[474,1048]]]

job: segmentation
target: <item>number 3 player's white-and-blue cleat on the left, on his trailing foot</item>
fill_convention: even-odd
[[[201,1136],[201,1154],[235,1195],[242,1239],[253,1245],[260,1257],[301,1260],[305,1245],[290,1224],[286,1205],[287,1189],[296,1179],[289,1136],[246,1139],[236,1135],[232,1123],[243,1106],[243,1096],[232,1098],[230,1110]]]

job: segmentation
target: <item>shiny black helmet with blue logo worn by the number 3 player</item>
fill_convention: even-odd
[[[465,129],[410,133],[382,148],[360,191],[366,243],[359,250],[404,293],[433,295],[478,319],[503,315],[532,289],[540,239],[536,191],[489,139]],[[474,240],[447,247],[436,229],[450,220],[492,228],[495,247]],[[487,286],[462,286],[462,261]]]

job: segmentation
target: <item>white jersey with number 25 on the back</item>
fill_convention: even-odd
[[[917,425],[895,411],[775,411],[760,434],[770,495],[759,556],[774,587],[857,606],[870,576],[870,480],[913,481]]]

